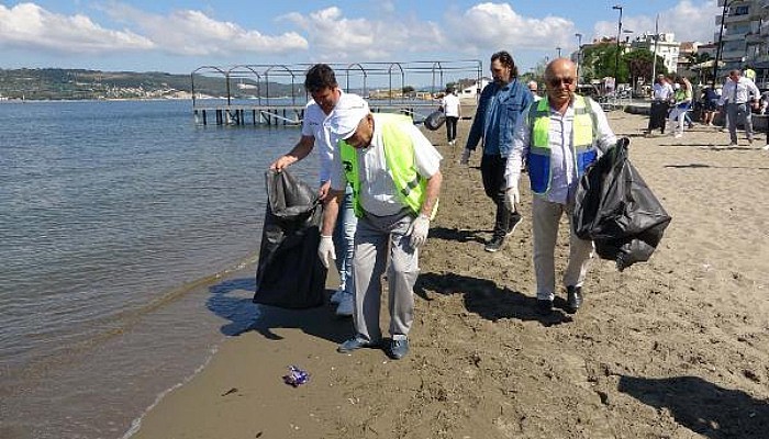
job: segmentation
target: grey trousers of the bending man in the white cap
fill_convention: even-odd
[[[408,210],[391,216],[366,214],[358,218],[355,230],[355,314],[353,323],[358,337],[377,342],[379,328],[382,274],[388,267],[390,335],[404,337],[414,320],[414,283],[420,273],[417,250],[409,245],[405,233],[413,222]]]

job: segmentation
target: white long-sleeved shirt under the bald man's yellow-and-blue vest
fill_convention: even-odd
[[[587,102],[590,103],[592,111],[595,113],[598,125],[595,139],[600,156],[616,144],[616,136],[614,136],[612,128],[609,127],[609,121],[606,121],[606,115],[603,113],[601,105],[592,99],[587,100]],[[528,156],[530,153],[532,127],[528,123],[528,112],[532,110],[532,106],[534,105],[530,105],[524,111],[515,127],[513,149],[508,157],[508,168],[504,173],[508,188],[517,187],[521,178],[522,158]],[[565,114],[557,112],[550,106],[548,140],[550,145],[550,173],[553,177],[550,191],[544,196],[551,203],[567,204],[569,200],[573,200],[579,183],[572,145],[573,136],[571,135],[573,121],[573,100],[569,103]]]

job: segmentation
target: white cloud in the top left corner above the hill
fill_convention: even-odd
[[[131,31],[113,31],[88,16],[62,15],[34,3],[0,4],[0,46],[52,53],[99,54],[152,49],[155,44]]]

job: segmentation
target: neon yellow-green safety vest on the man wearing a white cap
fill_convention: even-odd
[[[374,124],[382,134],[384,162],[392,181],[395,183],[399,199],[414,214],[419,214],[424,202],[427,180],[420,176],[414,166],[414,144],[409,135],[413,121],[402,114],[377,113],[374,114]],[[339,155],[345,179],[353,188],[355,216],[361,217],[364,209],[360,204],[361,184],[357,151],[347,142],[339,140]],[[437,204],[436,202],[431,219],[437,212]]]

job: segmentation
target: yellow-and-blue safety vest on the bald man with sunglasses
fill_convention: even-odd
[[[594,146],[598,133],[595,113],[588,100],[575,94],[575,119],[571,127],[571,150],[575,157],[575,168],[578,178],[598,157]],[[550,104],[542,99],[532,104],[528,110],[531,126],[531,147],[528,154],[528,178],[532,191],[544,195],[550,191],[553,181],[550,168]]]

